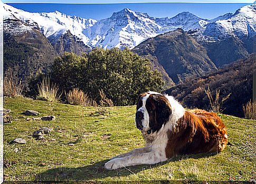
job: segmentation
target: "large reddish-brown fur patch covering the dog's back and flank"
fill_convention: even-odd
[[[177,127],[168,132],[166,157],[220,152],[227,144],[226,135],[226,127],[217,114],[201,109],[185,111],[177,121]]]

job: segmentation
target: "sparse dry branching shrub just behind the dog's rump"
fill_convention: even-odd
[[[207,90],[204,89],[204,91],[205,91],[205,93],[208,97],[208,100],[210,102],[211,110],[215,113],[221,113],[223,111],[223,109],[221,109],[222,105],[223,105],[224,101],[226,101],[230,97],[231,93],[229,95],[223,97],[220,101],[220,90],[216,90],[215,99],[213,99],[210,87],[208,87]]]

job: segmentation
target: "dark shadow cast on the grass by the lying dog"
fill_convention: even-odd
[[[106,170],[104,168],[105,163],[108,160],[102,160],[99,162],[94,162],[91,165],[69,168],[69,167],[59,167],[54,169],[46,170],[45,172],[39,173],[36,176],[36,180],[39,181],[88,181],[88,180],[101,180],[107,177],[124,177],[129,175],[134,175],[140,171],[145,171],[151,168],[157,168],[168,162],[180,161],[188,158],[205,158],[211,157],[215,154],[204,153],[204,154],[194,154],[194,155],[183,155],[176,156],[168,161],[157,163],[155,165],[138,165],[131,166],[127,168],[120,168],[117,170]],[[141,178],[143,179],[143,178]]]

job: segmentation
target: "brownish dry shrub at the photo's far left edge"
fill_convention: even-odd
[[[12,74],[11,69],[6,71],[6,75],[4,77],[4,96],[17,97],[21,96],[23,91],[23,84],[20,81],[17,81]]]

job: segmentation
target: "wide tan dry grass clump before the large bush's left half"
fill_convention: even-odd
[[[66,94],[68,103],[71,105],[82,105],[82,106],[96,106],[96,104],[84,94],[82,90],[74,88]]]

